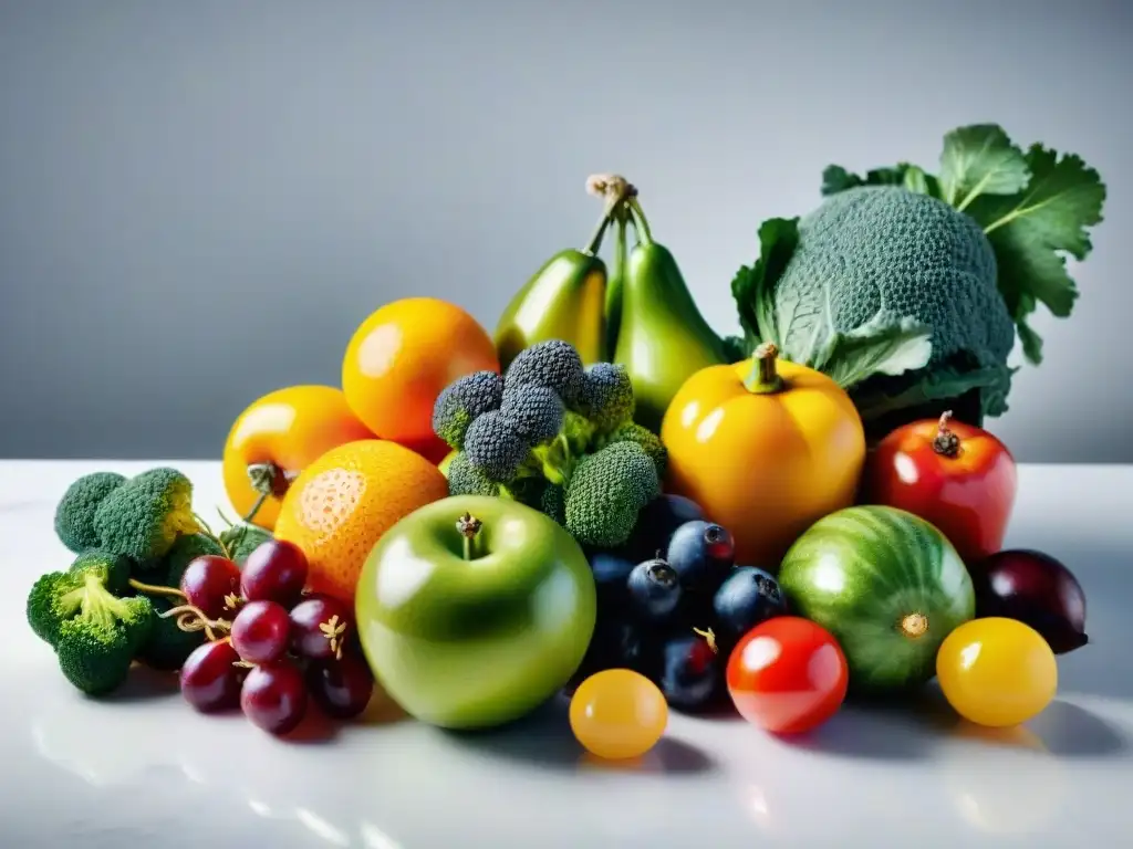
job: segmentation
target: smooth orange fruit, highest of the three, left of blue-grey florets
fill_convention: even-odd
[[[500,371],[495,343],[460,307],[436,298],[404,298],[361,323],[342,360],[350,409],[383,439],[432,452],[433,405],[457,378]],[[441,455],[443,456],[443,454]]]

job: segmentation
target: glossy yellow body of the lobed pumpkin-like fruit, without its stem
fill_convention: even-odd
[[[665,491],[699,504],[735,538],[735,559],[774,572],[815,521],[854,503],[866,435],[826,375],[780,360],[780,392],[748,389],[748,359],[692,375],[661,427]]]

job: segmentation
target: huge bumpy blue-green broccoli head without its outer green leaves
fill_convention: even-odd
[[[996,255],[980,225],[943,200],[900,186],[833,195],[799,221],[774,300],[793,305],[796,316],[778,340],[789,358],[819,351],[834,334],[860,331],[878,316],[929,329],[923,368],[850,387],[867,424],[918,402],[952,409],[969,391],[979,393],[983,414],[1006,410],[1015,325],[998,290]],[[803,318],[812,315],[821,321]],[[901,412],[922,418],[939,409]]]

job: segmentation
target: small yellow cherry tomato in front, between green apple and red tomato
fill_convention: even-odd
[[[668,724],[668,704],[657,685],[630,669],[605,669],[582,681],[570,702],[570,727],[598,757],[640,757]]]

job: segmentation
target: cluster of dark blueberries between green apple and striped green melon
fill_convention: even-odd
[[[624,546],[588,557],[598,620],[568,689],[623,668],[649,678],[675,710],[725,706],[729,653],[756,625],[787,612],[775,578],[736,565],[727,529],[680,496],[655,499]]]

